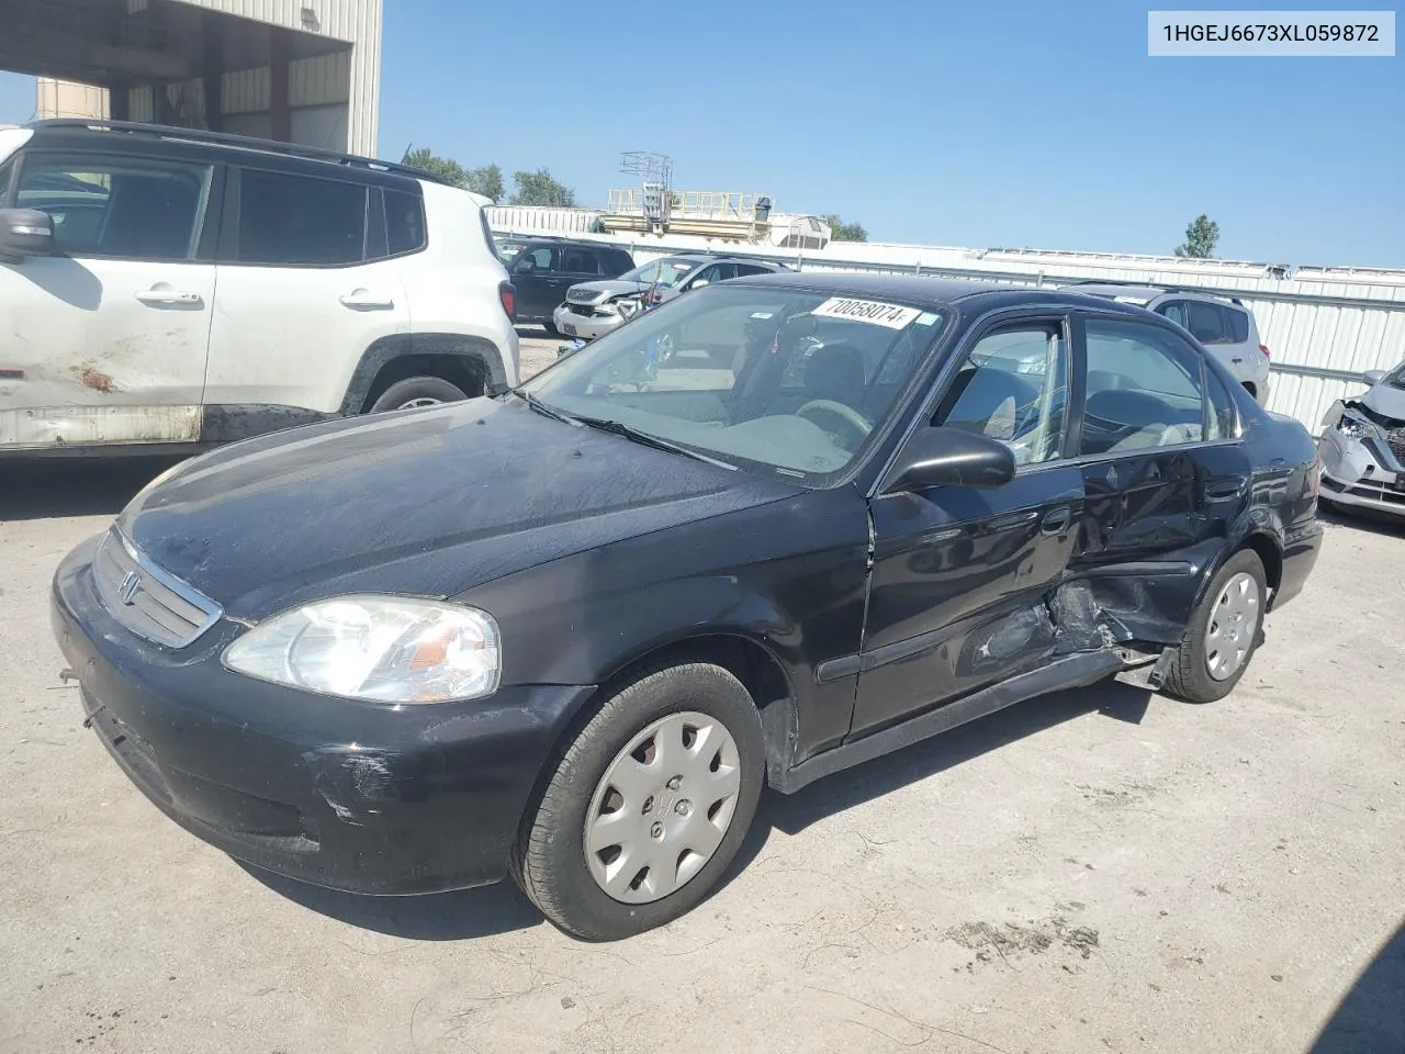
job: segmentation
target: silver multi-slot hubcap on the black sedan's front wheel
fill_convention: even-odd
[[[736,741],[707,714],[669,714],[615,755],[586,812],[590,877],[625,904],[649,904],[712,859],[742,786]]]

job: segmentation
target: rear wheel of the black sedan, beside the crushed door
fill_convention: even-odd
[[[1187,703],[1228,696],[1259,646],[1269,587],[1256,552],[1234,554],[1210,583],[1180,639],[1166,690]]]

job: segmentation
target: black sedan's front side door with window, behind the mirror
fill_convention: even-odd
[[[1044,596],[1073,557],[1083,502],[1068,453],[1065,316],[986,329],[919,427],[1000,440],[1016,478],[871,500],[874,565],[850,736],[1038,665],[1052,646]]]

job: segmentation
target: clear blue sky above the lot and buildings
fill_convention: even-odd
[[[1224,257],[1405,267],[1405,58],[1152,59],[1146,7],[386,0],[381,153],[600,204],[658,150],[873,240],[1166,253],[1208,212]]]

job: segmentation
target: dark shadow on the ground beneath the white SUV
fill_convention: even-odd
[[[117,516],[178,457],[0,464],[0,523],[58,516]]]

